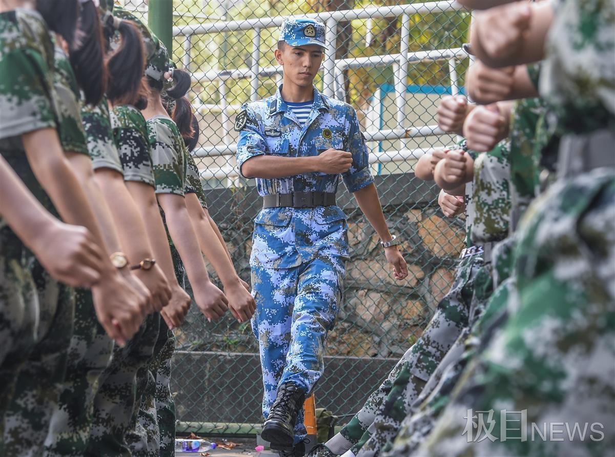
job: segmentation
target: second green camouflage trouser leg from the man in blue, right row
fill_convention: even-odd
[[[427,381],[421,395],[411,405],[408,415],[403,419],[394,442],[389,442],[384,447],[383,457],[414,455],[416,448],[432,431],[435,421],[448,404],[451,392],[459,381],[467,362],[474,357],[479,344],[485,344],[488,334],[492,333],[487,329],[493,329],[496,323],[499,325],[501,322],[499,317],[502,312],[506,311],[509,291],[512,288],[512,279],[509,278],[509,275],[513,248],[514,238],[507,238],[494,248],[492,259],[494,280],[491,283],[493,285],[499,284],[498,288],[490,293],[489,283],[477,278],[475,300],[470,312],[470,320],[472,321],[470,328],[459,335],[457,341],[454,342],[434,374]],[[486,269],[483,269],[483,273],[487,273]],[[485,297],[488,299],[485,300]],[[482,304],[485,301],[486,305],[482,310]]]

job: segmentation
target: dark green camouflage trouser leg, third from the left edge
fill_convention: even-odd
[[[109,365],[112,352],[113,340],[98,323],[92,292],[77,289],[66,376],[45,442],[46,457],[85,454],[92,432],[98,378]]]

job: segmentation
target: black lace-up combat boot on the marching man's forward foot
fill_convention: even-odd
[[[277,398],[263,424],[261,437],[274,450],[292,451],[295,439],[295,423],[305,392],[296,384],[287,382],[277,389]]]

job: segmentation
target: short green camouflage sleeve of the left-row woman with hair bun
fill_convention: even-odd
[[[155,116],[148,119],[147,126],[149,144],[152,149],[156,193],[173,193],[183,196],[186,163],[183,150],[177,142],[173,129],[175,123],[171,119],[167,121],[167,118]],[[183,140],[181,143],[183,145]]]

